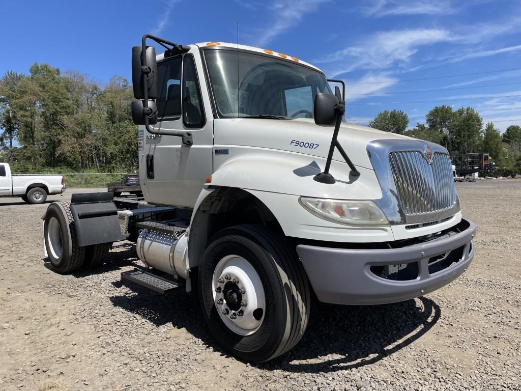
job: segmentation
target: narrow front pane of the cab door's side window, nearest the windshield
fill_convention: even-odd
[[[205,118],[194,59],[186,55],[183,63],[183,122],[187,128],[199,128]]]

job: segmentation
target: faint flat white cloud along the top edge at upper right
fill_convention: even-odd
[[[454,12],[449,1],[376,0],[361,7],[366,16],[389,15],[448,15]]]

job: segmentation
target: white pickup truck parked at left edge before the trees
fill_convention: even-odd
[[[12,175],[9,164],[0,163],[0,197],[18,196],[30,204],[41,204],[48,194],[64,191],[61,175]]]

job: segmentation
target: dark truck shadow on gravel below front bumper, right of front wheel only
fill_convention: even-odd
[[[438,304],[425,297],[383,306],[320,303],[300,343],[259,368],[318,373],[374,364],[421,338],[440,316]]]

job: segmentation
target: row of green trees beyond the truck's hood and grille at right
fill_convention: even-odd
[[[488,152],[496,166],[506,175],[521,173],[521,127],[511,125],[501,135],[492,122],[472,107],[454,110],[451,106],[434,107],[425,116],[425,123],[407,129],[409,118],[401,110],[382,111],[369,122],[372,128],[399,133],[445,146],[451,156]]]

